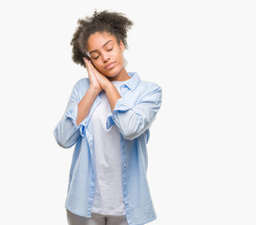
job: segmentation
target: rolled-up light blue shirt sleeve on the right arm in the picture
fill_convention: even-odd
[[[129,101],[128,98],[120,98],[111,118],[123,138],[133,140],[151,127],[156,113],[161,107],[162,88],[156,84],[147,88],[134,107],[129,106],[131,105]]]

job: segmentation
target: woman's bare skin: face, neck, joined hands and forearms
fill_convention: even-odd
[[[130,79],[123,67],[123,43],[113,35],[96,32],[88,38],[89,59],[84,58],[88,70],[89,88],[84,98],[78,104],[76,124],[79,125],[85,117],[99,93],[104,90],[111,110],[120,98],[120,93],[111,81],[126,81]]]

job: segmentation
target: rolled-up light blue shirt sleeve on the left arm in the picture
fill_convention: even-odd
[[[76,125],[78,103],[80,102],[80,85],[81,82],[79,81],[75,83],[65,113],[54,130],[56,142],[63,148],[72,147],[80,136],[85,137],[86,135],[85,128],[88,125],[88,116],[78,126]]]

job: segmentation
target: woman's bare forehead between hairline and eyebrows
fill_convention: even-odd
[[[109,40],[117,42],[116,37],[107,32],[96,32],[90,35],[88,37],[88,52],[102,48]]]

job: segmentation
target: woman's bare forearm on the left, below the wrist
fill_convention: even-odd
[[[93,88],[88,88],[84,98],[78,104],[78,112],[76,118],[76,125],[79,125],[88,115],[88,112],[97,96],[99,91]]]

